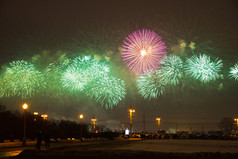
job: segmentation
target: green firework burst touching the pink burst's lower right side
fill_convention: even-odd
[[[183,77],[183,61],[175,55],[165,56],[161,61],[159,74],[166,84],[176,85]]]

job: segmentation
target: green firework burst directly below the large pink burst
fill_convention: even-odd
[[[165,91],[165,83],[157,71],[141,74],[136,80],[136,86],[139,94],[149,100],[163,95]]]

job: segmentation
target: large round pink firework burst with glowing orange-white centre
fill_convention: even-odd
[[[142,29],[128,35],[122,45],[122,59],[135,73],[156,70],[166,55],[166,46],[153,31]]]

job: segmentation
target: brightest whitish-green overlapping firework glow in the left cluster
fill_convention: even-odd
[[[109,67],[105,63],[99,63],[90,56],[77,57],[63,73],[63,87],[71,91],[83,91],[91,81],[108,72]]]

